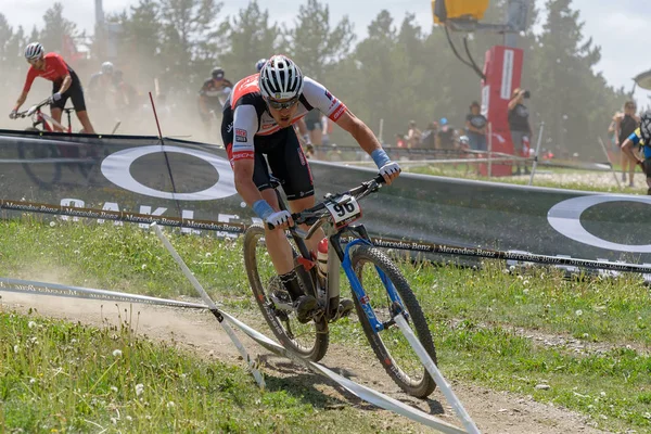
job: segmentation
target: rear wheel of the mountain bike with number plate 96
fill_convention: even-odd
[[[303,358],[319,361],[328,350],[328,322],[322,316],[319,320],[302,324],[294,312],[276,307],[272,293],[285,292],[271,264],[264,238],[265,229],[260,226],[252,226],[244,233],[244,265],[255,301],[269,328],[285,348]],[[297,257],[295,246],[292,245],[292,248],[294,257]],[[302,266],[297,271],[303,288],[311,290],[311,284],[305,284],[305,280],[310,279],[309,272]]]

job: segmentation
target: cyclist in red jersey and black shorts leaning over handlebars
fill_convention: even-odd
[[[31,42],[25,49],[25,59],[27,59],[27,62],[30,65],[29,71],[27,72],[23,92],[21,93],[21,97],[18,97],[16,105],[9,117],[12,119],[16,117],[18,108],[21,108],[21,105],[23,105],[27,99],[34,79],[36,77],[42,77],[52,81],[52,103],[50,104],[50,110],[54,120],[61,124],[61,115],[65,107],[65,103],[69,98],[73,100],[75,112],[77,112],[77,117],[84,127],[84,131],[94,135],[94,129],[90,124],[88,113],[86,112],[86,101],[84,100],[81,81],[73,68],[65,63],[63,58],[56,53],[44,54],[43,47],[40,43]],[[56,131],[61,131],[59,127],[53,127]]]

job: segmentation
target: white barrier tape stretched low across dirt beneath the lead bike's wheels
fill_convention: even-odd
[[[271,341],[269,337],[265,336],[260,332],[246,326],[244,322],[231,317],[229,314],[227,314],[225,311],[222,311],[221,314],[224,315],[224,318],[226,318],[229,322],[233,323],[235,327],[238,327],[240,330],[242,330],[251,339],[253,339],[255,342],[257,342],[265,348],[269,349],[270,352],[272,352],[279,356],[288,357],[289,359],[294,360],[297,363],[305,366],[312,372],[320,373],[321,375],[328,376],[329,379],[335,381],[342,387],[344,387],[352,394],[358,396],[359,398],[366,400],[367,403],[370,403],[376,407],[380,407],[385,410],[393,411],[397,414],[409,418],[416,422],[422,423],[423,425],[426,425],[426,426],[433,427],[437,431],[441,431],[442,433],[450,433],[450,434],[465,433],[465,431],[463,431],[455,425],[451,425],[432,414],[427,414],[424,411],[421,411],[417,408],[410,407],[410,406],[408,406],[404,403],[400,403],[397,399],[388,397],[380,392],[373,391],[372,388],[369,388],[361,384],[355,383],[354,381],[348,380],[345,376],[342,376],[319,363],[315,363],[309,360],[305,360],[305,359],[298,357],[297,355],[295,355],[294,353],[290,352],[289,349],[284,348],[283,346]],[[478,431],[475,431],[475,433],[477,433],[477,432]]]

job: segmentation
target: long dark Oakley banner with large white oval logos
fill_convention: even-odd
[[[175,139],[164,143],[156,137],[0,130],[0,199],[5,205],[36,203],[46,213],[48,205],[103,210],[92,216],[101,221],[122,213],[146,225],[150,215],[225,224],[225,231],[228,225],[241,231],[241,225],[255,221],[235,192],[224,150]],[[319,162],[311,168],[318,197],[375,174]],[[651,263],[650,204],[647,196],[404,174],[361,207],[362,222],[381,238],[644,264]]]

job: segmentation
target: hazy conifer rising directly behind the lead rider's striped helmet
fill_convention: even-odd
[[[269,59],[283,49],[279,26],[269,23],[269,11],[261,11],[255,0],[241,9],[238,16],[226,21],[222,30],[226,48],[219,64],[231,80],[254,74],[258,59]]]

